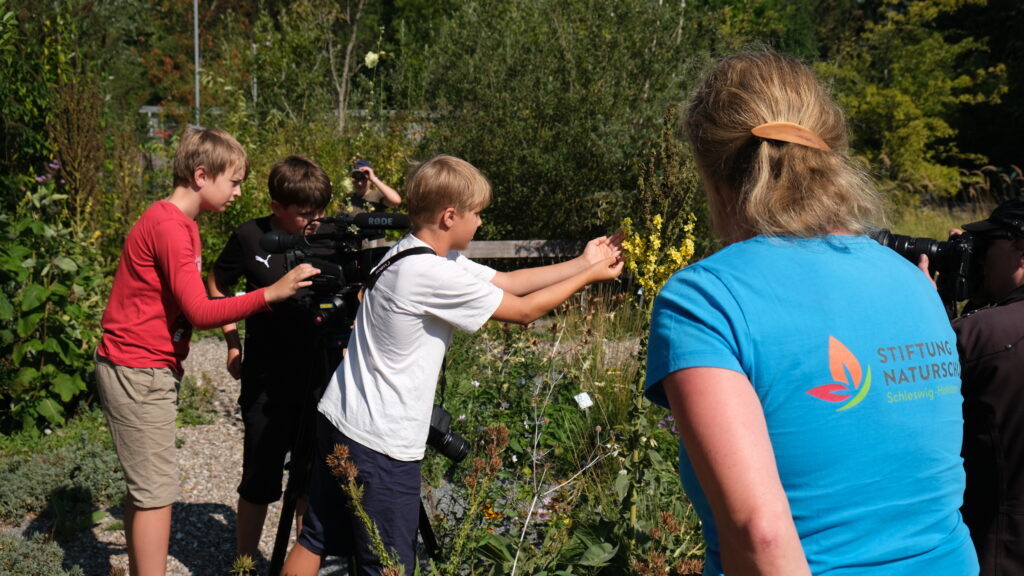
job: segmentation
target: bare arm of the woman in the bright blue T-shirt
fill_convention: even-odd
[[[746,376],[687,368],[663,385],[715,515],[725,573],[809,575],[764,411]]]

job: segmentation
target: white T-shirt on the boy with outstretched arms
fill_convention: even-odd
[[[413,235],[381,260],[426,246]],[[348,351],[317,409],[348,438],[396,460],[423,458],[441,361],[455,328],[474,332],[504,292],[458,252],[395,261],[362,296]]]

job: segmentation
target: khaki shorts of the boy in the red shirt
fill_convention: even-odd
[[[169,368],[128,368],[99,356],[96,383],[106,423],[139,508],[173,504],[178,497],[174,446],[179,378]]]

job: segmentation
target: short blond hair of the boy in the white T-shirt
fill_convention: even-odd
[[[406,196],[409,217],[419,228],[450,206],[462,213],[486,208],[490,182],[469,162],[441,155],[416,167]]]

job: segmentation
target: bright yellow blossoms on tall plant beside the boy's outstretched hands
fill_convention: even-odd
[[[683,269],[693,258],[693,229],[696,217],[688,214],[682,227],[682,238],[678,245],[665,247],[663,235],[666,232],[665,218],[655,214],[648,230],[638,230],[632,218],[623,219],[623,259],[626,271],[633,275],[643,291],[644,301],[649,306],[654,301],[662,286],[669,277]]]

